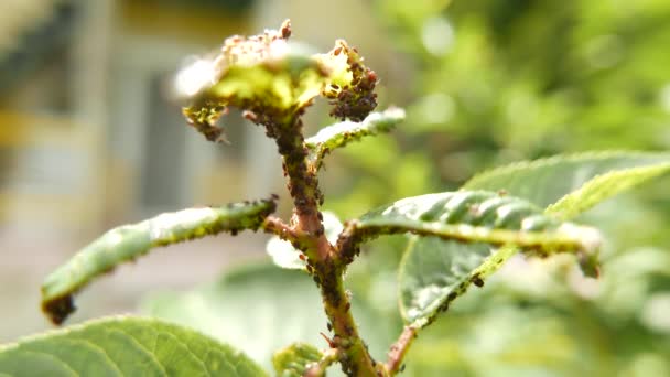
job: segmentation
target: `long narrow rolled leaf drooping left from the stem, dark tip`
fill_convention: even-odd
[[[191,208],[114,228],[45,279],[42,309],[54,323],[60,324],[74,311],[73,294],[117,265],[134,260],[154,247],[221,231],[235,234],[242,229],[258,229],[274,208],[275,203],[271,200],[219,208]]]

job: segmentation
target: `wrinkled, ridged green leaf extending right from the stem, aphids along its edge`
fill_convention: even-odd
[[[347,224],[339,241],[360,243],[398,233],[514,244],[542,254],[594,250],[599,246],[595,229],[558,222],[525,200],[486,191],[446,192],[398,201]]]

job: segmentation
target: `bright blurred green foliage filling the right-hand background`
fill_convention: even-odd
[[[399,197],[453,190],[483,169],[520,159],[668,150],[667,1],[375,7],[409,62],[406,83],[386,83],[388,97],[407,98],[399,105],[409,111],[395,137],[339,152],[357,174],[326,184],[326,195],[342,194],[326,206],[345,218]],[[607,237],[598,281],[582,278],[568,257],[512,260],[420,335],[408,371],[670,375],[668,183],[658,180],[580,218]],[[403,247],[401,238],[372,244],[349,279],[355,294],[388,315],[397,315],[397,298],[381,291],[396,283]]]

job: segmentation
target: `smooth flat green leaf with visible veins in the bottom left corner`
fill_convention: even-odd
[[[266,376],[230,346],[174,324],[118,316],[0,346],[9,376]]]

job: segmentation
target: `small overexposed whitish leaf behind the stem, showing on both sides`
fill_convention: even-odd
[[[323,227],[326,238],[329,243],[334,244],[337,241],[337,236],[343,229],[342,222],[332,212],[324,211],[323,214]],[[266,246],[268,255],[272,257],[272,261],[279,267],[290,270],[305,270],[306,262],[300,259],[301,251],[295,249],[291,243],[273,236],[268,240]]]

